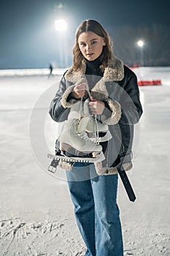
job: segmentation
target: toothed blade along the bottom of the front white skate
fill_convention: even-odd
[[[61,155],[47,154],[50,159],[61,160],[64,162],[101,162],[105,159],[104,153],[101,151],[96,157],[67,157]]]

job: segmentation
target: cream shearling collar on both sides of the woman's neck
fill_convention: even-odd
[[[70,82],[76,83],[85,75],[86,64],[82,63],[82,69],[78,70],[77,72],[72,72],[72,67],[67,70],[65,74],[66,80]],[[114,55],[112,59],[108,61],[108,65],[104,70],[103,80],[106,81],[119,81],[123,80],[124,78],[124,66],[123,61],[117,59]]]

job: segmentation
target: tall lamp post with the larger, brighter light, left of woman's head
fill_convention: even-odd
[[[59,58],[60,58],[60,67],[67,66],[67,53],[66,53],[66,29],[67,23],[66,20],[58,19],[55,20],[55,29],[58,32],[58,49],[59,49]]]

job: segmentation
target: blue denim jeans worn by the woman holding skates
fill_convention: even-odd
[[[97,176],[93,164],[77,164],[66,176],[77,226],[87,246],[85,256],[123,256],[117,174]]]

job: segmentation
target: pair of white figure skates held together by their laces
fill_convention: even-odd
[[[108,126],[101,124],[89,110],[89,99],[75,103],[69,113],[68,121],[55,145],[55,155],[48,154],[53,159],[48,170],[55,173],[58,162],[101,162],[105,159],[99,142],[112,138]],[[99,138],[98,133],[106,133]],[[90,138],[88,137],[90,135]],[[93,153],[96,157],[93,157]]]

